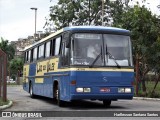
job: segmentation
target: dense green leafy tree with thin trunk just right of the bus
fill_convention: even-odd
[[[114,26],[131,31],[134,59],[137,68],[139,68],[139,63],[142,63],[142,89],[146,92],[144,76],[152,69],[151,66],[153,63],[150,63],[148,59],[154,59],[154,57],[152,57],[154,54],[150,54],[150,50],[153,48],[151,46],[158,38],[158,19],[151,11],[145,8],[145,6],[140,7],[139,5],[136,5],[133,8],[127,8],[121,14],[121,17],[115,18],[116,22],[113,23]],[[136,74],[138,74],[138,69],[136,70]]]

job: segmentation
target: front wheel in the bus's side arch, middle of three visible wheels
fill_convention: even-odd
[[[65,101],[60,100],[60,89],[58,86],[56,87],[55,93],[56,93],[55,97],[56,97],[58,106],[63,107],[65,105]]]

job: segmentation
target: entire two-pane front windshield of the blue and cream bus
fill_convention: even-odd
[[[113,34],[73,34],[71,65],[132,66],[130,37]]]

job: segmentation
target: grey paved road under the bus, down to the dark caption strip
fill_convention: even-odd
[[[4,111],[160,111],[160,101],[148,100],[113,101],[109,108],[104,108],[100,101],[77,101],[73,104],[68,103],[67,107],[60,108],[50,98],[30,98],[29,94],[23,90],[22,86],[8,87],[8,99],[13,101],[13,106]],[[84,113],[85,112],[83,112],[83,114]],[[118,119],[124,119],[124,117],[118,117]],[[129,118],[126,117],[126,119],[128,120]],[[150,120],[151,117],[139,117],[138,119]],[[155,117],[153,119],[155,119]]]

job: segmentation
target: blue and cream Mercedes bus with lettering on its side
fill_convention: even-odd
[[[25,48],[23,88],[72,100],[132,99],[134,68],[130,31],[114,27],[65,27]]]

